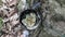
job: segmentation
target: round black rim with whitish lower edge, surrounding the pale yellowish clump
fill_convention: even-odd
[[[30,13],[35,13],[36,14],[36,22],[35,22],[35,25],[32,27],[25,26],[22,23],[22,20],[26,18],[26,14],[30,14]],[[35,10],[32,10],[32,9],[25,10],[25,11],[21,12],[21,14],[20,14],[20,23],[22,25],[24,25],[27,29],[35,29],[35,28],[37,28],[39,26],[40,22],[41,22],[41,15],[40,15],[40,13],[37,12],[37,11],[35,11]]]

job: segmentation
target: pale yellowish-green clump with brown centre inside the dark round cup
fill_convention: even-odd
[[[24,18],[22,22],[24,25],[32,27],[36,23],[36,14],[35,13],[27,14],[26,18]]]

